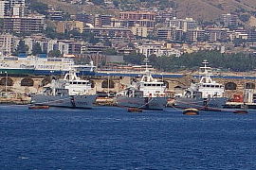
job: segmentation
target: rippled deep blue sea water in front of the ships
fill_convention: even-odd
[[[0,169],[256,169],[248,114],[0,106]]]

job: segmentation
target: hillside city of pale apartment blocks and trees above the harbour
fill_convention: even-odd
[[[42,0],[2,0],[0,54],[93,60],[99,68],[141,64],[148,57],[162,71],[192,69],[207,58],[220,60],[214,67],[254,70],[246,63],[256,63],[255,11],[223,9],[208,21],[178,16],[174,1],[137,1],[141,6],[136,7],[129,2],[56,0],[62,6],[54,6]],[[69,6],[94,11],[63,8]],[[234,63],[227,65],[224,56]],[[192,61],[186,65],[188,58]]]

